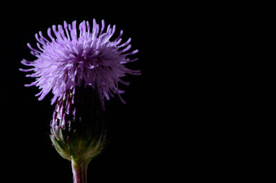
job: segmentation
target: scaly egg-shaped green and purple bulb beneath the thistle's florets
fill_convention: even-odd
[[[92,92],[92,95],[91,95]],[[66,160],[87,164],[106,143],[106,119],[92,87],[79,87],[58,101],[51,121],[50,138]]]

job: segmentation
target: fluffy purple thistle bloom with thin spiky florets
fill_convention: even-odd
[[[52,31],[55,37],[52,36]],[[48,28],[46,39],[41,32],[35,34],[37,39],[37,48],[33,48],[30,43],[31,54],[37,57],[35,61],[26,61],[21,63],[30,66],[30,69],[19,69],[23,72],[31,72],[27,77],[34,77],[36,80],[29,86],[37,86],[41,91],[36,94],[39,100],[42,100],[50,91],[54,94],[51,104],[60,100],[66,91],[72,90],[75,93],[75,87],[83,84],[97,89],[99,98],[104,104],[104,98],[109,100],[110,96],[118,94],[121,98],[121,91],[118,88],[119,83],[128,85],[129,83],[121,80],[126,74],[139,75],[139,70],[128,69],[125,63],[137,61],[137,58],[130,59],[129,55],[136,54],[138,50],[128,52],[131,45],[130,40],[121,43],[121,30],[116,39],[112,38],[115,34],[115,25],[111,28],[108,25],[104,31],[104,21],[99,24],[93,19],[92,29],[88,21],[79,24],[77,31],[77,22],[72,25],[64,21],[62,25],[52,25]],[[128,52],[128,53],[126,53]]]

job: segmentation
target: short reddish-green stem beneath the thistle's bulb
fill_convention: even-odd
[[[76,163],[72,160],[72,172],[73,172],[73,182],[74,183],[87,183],[87,168],[86,164]]]

